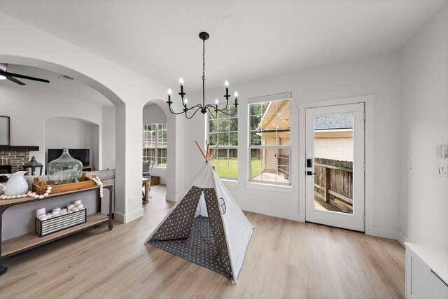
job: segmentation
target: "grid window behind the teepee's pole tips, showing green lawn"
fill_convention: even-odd
[[[208,115],[209,126],[209,151],[213,151],[219,142],[211,162],[215,171],[221,178],[238,179],[238,111],[235,106],[228,107],[223,112],[218,112],[216,119]],[[227,114],[226,114],[227,113]]]

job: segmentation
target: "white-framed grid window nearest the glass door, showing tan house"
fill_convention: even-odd
[[[249,99],[248,113],[249,179],[290,184],[290,93]]]

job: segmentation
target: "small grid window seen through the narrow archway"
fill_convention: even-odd
[[[143,126],[143,160],[152,160],[154,166],[167,167],[167,123]]]

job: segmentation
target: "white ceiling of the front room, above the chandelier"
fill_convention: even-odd
[[[1,0],[0,11],[174,90],[400,48],[447,0]],[[232,16],[233,23],[226,16]],[[230,19],[232,19],[230,18]]]

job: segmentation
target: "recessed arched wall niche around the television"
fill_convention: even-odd
[[[45,119],[45,165],[48,163],[48,148],[88,148],[90,166],[99,165],[99,125],[71,118]]]

